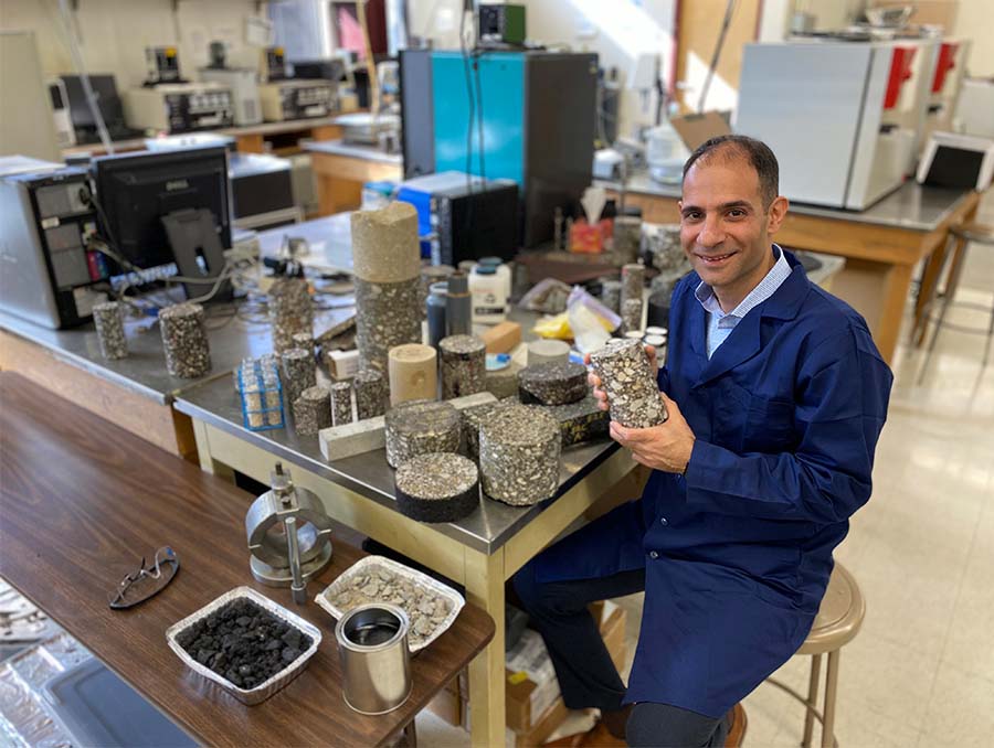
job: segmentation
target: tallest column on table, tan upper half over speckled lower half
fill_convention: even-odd
[[[359,367],[384,372],[390,349],[421,342],[417,212],[396,202],[351,221]]]

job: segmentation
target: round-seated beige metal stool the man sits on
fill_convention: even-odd
[[[803,696],[776,678],[769,677],[766,683],[775,685],[804,704],[804,740],[802,746],[811,748],[814,720],[822,723],[822,748],[833,748],[835,740],[835,694],[838,687],[838,659],[842,648],[848,644],[863,626],[866,616],[866,601],[859,591],[856,579],[840,564],[835,565],[828,580],[828,589],[822,598],[822,607],[815,617],[811,633],[797,650],[797,654],[810,654],[811,678],[807,696]],[[821,684],[822,655],[828,654],[828,674],[825,683],[824,708],[818,710],[818,686]]]

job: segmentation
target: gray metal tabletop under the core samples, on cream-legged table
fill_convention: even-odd
[[[237,393],[230,380],[208,382],[183,392],[176,399],[181,413],[205,421],[265,449],[273,460],[284,460],[343,485],[383,506],[396,511],[393,498],[393,470],[387,464],[385,451],[357,455],[343,460],[328,461],[321,455],[317,436],[297,436],[292,427],[269,431],[250,431],[242,426]],[[568,447],[560,461],[560,490],[569,491],[601,462],[618,449],[610,439]],[[435,527],[459,543],[484,553],[494,553],[535,519],[544,504],[509,506],[480,496],[479,511],[459,522]]]

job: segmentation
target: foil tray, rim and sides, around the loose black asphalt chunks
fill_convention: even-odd
[[[197,662],[197,660],[187,654],[183,648],[179,645],[179,642],[177,642],[177,637],[179,637],[182,631],[186,631],[188,628],[197,623],[200,619],[207,618],[219,608],[223,608],[232,600],[237,600],[241,598],[247,598],[252,602],[256,603],[260,608],[266,610],[276,618],[282,619],[284,622],[289,623],[295,629],[299,629],[303,633],[306,633],[308,637],[310,637],[310,647],[308,647],[299,658],[281,670],[268,681],[264,681],[254,688],[247,690],[240,688],[223,675],[219,675],[210,667],[204,667],[203,665],[201,665],[199,662]],[[243,704],[252,706],[254,704],[260,704],[266,701],[269,696],[275,694],[303,672],[305,665],[307,665],[307,661],[310,660],[311,656],[314,656],[314,653],[317,652],[318,644],[321,643],[321,632],[313,623],[308,623],[296,613],[292,613],[283,606],[273,602],[266,597],[263,597],[251,587],[235,587],[233,590],[224,592],[224,595],[222,595],[221,597],[216,598],[212,602],[209,602],[197,612],[190,613],[181,621],[178,621],[166,629],[166,641],[169,643],[169,648],[173,652],[176,652],[177,656],[179,656],[179,659],[183,661],[183,664],[190,667],[190,670],[219,684],[222,688],[231,693]]]

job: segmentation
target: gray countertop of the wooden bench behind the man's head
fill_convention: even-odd
[[[617,182],[599,182],[599,184],[612,190],[621,189]],[[659,184],[649,179],[648,172],[639,171],[628,179],[626,192],[679,199],[680,185]],[[963,190],[923,186],[911,180],[865,211],[845,211],[803,203],[791,203],[790,210],[800,215],[930,232],[956,209],[966,194],[967,192]]]

